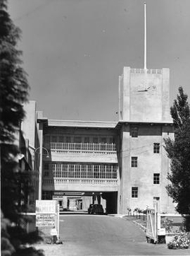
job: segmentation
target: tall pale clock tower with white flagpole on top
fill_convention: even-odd
[[[169,161],[164,139],[173,136],[170,117],[170,70],[146,68],[146,3],[144,4],[144,69],[125,66],[119,76],[120,129],[118,212],[146,209],[158,200],[160,211],[174,207],[165,186]],[[171,210],[172,209],[172,210]]]

